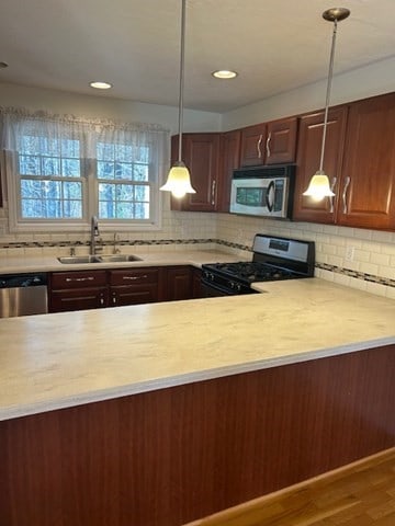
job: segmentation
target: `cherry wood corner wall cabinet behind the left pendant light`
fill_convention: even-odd
[[[171,198],[172,210],[215,211],[218,203],[218,159],[221,134],[183,134],[182,160],[191,174],[195,194]],[[178,157],[178,136],[171,139],[172,163]]]

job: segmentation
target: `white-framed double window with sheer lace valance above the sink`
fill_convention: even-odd
[[[168,132],[0,112],[11,230],[159,227]]]

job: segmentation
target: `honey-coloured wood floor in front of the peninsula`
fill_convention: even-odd
[[[395,526],[395,448],[188,526]]]

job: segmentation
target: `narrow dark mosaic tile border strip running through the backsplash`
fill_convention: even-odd
[[[215,243],[222,247],[227,247],[229,249],[242,250],[246,252],[252,252],[252,247],[239,243],[232,243],[229,241],[224,241],[222,239],[135,239],[133,241],[128,240],[119,240],[116,241],[117,247],[136,247],[136,245],[162,245],[162,244],[208,244]],[[101,241],[98,243],[102,247],[113,247],[114,241]],[[9,242],[0,243],[1,249],[36,249],[36,248],[67,248],[67,247],[89,247],[89,241],[22,241],[22,242]],[[363,272],[352,271],[350,268],[343,268],[336,265],[328,265],[327,263],[317,263],[315,265],[317,268],[324,271],[334,272],[336,274],[342,274],[345,276],[354,277],[357,279],[362,279],[364,282],[372,282],[379,285],[385,285],[387,287],[395,287],[395,279],[385,278],[375,276],[373,274],[366,274]]]

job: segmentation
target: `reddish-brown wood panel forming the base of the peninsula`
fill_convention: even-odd
[[[0,422],[0,524],[180,526],[395,445],[395,345]]]

